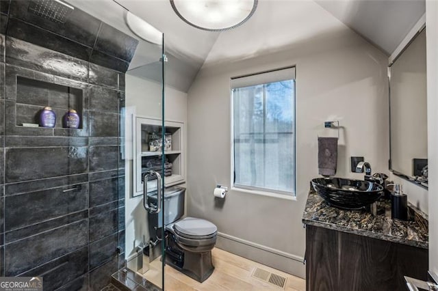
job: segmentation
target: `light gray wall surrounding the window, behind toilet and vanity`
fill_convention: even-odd
[[[350,156],[365,156],[373,171],[388,174],[387,56],[333,20],[335,30],[277,53],[205,64],[188,92],[188,215],[218,226],[218,247],[305,276],[305,229],[301,217],[309,182],[318,176],[317,137],[325,120],[339,120],[337,176],[350,173]],[[332,29],[333,29],[332,27]],[[245,27],[219,38],[220,55]],[[250,46],[246,43],[245,45]],[[296,199],[231,189],[214,199],[216,184],[231,186],[231,77],[296,65]]]

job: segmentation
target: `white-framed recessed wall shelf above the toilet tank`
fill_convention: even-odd
[[[153,169],[158,171],[164,179],[164,186],[173,186],[185,182],[185,159],[184,159],[184,123],[164,121],[166,135],[172,140],[171,148],[164,151],[166,159],[164,173],[160,173],[163,152],[162,150],[151,151],[149,142],[162,135],[162,120],[148,117],[136,117],[134,126],[134,174],[133,174],[133,196],[143,194],[142,175],[144,172]],[[171,174],[170,174],[171,169]],[[167,176],[166,176],[167,175]],[[148,190],[155,191],[157,181],[148,182]]]

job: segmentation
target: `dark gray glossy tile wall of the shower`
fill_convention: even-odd
[[[136,40],[81,10],[53,25],[27,5],[0,0],[0,276],[101,290],[124,262],[119,112]],[[47,105],[55,128],[21,126]],[[79,129],[62,128],[70,107]]]

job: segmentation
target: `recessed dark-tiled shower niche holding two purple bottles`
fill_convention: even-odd
[[[68,109],[77,111],[80,118],[79,128],[64,129],[78,130],[83,128],[82,89],[17,76],[15,125],[38,124],[40,112],[47,106],[51,107],[56,114],[55,128],[62,128],[62,120]]]

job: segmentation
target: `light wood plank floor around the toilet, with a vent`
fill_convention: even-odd
[[[270,283],[251,277],[255,268],[282,275],[287,278],[285,290],[305,290],[306,283],[304,279],[289,275],[274,268],[263,264],[253,262],[242,258],[233,253],[214,248],[211,251],[213,265],[215,267],[213,274],[203,283],[180,273],[171,266],[165,267],[164,287],[166,290],[283,290]],[[153,261],[151,269],[144,274],[149,281],[161,286],[161,262],[159,259]]]

